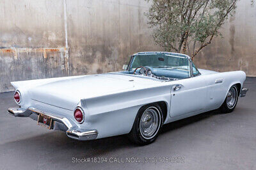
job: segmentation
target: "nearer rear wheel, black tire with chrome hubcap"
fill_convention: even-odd
[[[158,104],[141,107],[135,118],[129,139],[136,144],[150,144],[154,142],[163,125],[163,112]]]

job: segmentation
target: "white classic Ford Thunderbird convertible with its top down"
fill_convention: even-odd
[[[150,144],[163,124],[220,109],[232,112],[244,97],[243,71],[197,69],[191,58],[172,52],[139,52],[124,71],[12,82],[15,117],[86,141],[128,134]]]

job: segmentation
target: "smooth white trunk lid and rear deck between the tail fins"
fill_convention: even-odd
[[[134,88],[128,75],[85,75],[74,79],[49,82],[29,89],[29,97],[36,104],[73,110],[83,98],[99,97]]]

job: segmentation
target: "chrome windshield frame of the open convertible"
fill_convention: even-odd
[[[189,77],[188,78],[190,78],[190,77],[194,77],[194,75],[193,75],[193,61],[191,60],[191,58],[188,56],[188,55],[186,55],[186,54],[180,54],[180,53],[175,53],[175,52],[138,52],[138,53],[136,53],[136,54],[133,54],[132,56],[131,56],[131,59],[130,59],[130,61],[129,61],[129,65],[127,66],[127,71],[131,71],[132,69],[131,69],[131,66],[132,66],[132,63],[133,63],[133,61],[134,61],[134,57],[136,56],[136,55],[140,55],[140,54],[166,54],[166,55],[173,55],[173,56],[184,56],[184,57],[186,57],[186,58],[188,58],[188,60],[189,60]],[[195,65],[195,64],[194,64]],[[195,68],[196,68],[196,66],[195,66]],[[197,68],[196,68],[197,69]],[[199,71],[198,71],[199,72]],[[199,74],[198,75],[200,75],[201,73],[199,72]]]

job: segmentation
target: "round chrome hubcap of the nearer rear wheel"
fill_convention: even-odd
[[[152,139],[160,126],[160,112],[156,107],[148,107],[140,119],[140,133],[145,139]]]

